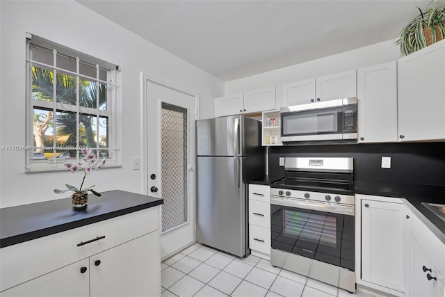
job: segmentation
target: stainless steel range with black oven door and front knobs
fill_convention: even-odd
[[[270,262],[355,291],[353,158],[285,158],[270,186]]]

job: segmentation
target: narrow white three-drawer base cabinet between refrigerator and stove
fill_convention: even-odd
[[[249,184],[249,248],[270,259],[270,186]]]

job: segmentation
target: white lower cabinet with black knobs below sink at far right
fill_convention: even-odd
[[[405,291],[412,297],[444,297],[445,244],[405,210]]]

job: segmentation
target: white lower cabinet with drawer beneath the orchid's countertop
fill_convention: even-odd
[[[1,248],[0,295],[160,296],[158,216],[152,207]]]

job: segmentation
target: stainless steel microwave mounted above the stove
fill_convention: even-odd
[[[357,98],[282,107],[281,141],[307,143],[357,143]]]

